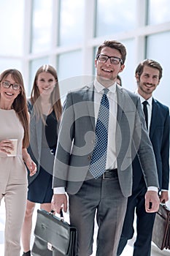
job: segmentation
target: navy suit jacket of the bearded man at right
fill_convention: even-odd
[[[152,116],[150,123],[150,140],[158,171],[160,189],[169,189],[169,108],[152,99]],[[142,178],[142,167],[136,157],[133,162],[134,185],[133,190],[139,186]]]

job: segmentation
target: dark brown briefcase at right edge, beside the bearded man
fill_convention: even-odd
[[[170,209],[160,204],[152,230],[152,241],[163,250],[170,249]]]

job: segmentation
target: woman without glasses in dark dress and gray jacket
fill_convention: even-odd
[[[28,108],[31,113],[28,151],[38,170],[34,178],[29,178],[26,216],[22,230],[25,256],[31,255],[32,215],[36,203],[41,204],[40,208],[51,211],[53,161],[58,139],[58,122],[61,117],[58,76],[54,67],[43,65],[36,71]],[[39,255],[42,255],[41,252]]]

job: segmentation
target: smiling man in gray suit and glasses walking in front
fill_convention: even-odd
[[[77,256],[93,252],[95,216],[96,255],[116,255],[136,152],[147,184],[146,211],[158,211],[158,176],[142,105],[139,97],[116,83],[125,56],[121,42],[101,44],[95,59],[96,80],[69,92],[63,106],[52,203],[58,213],[61,208],[66,211],[66,193],[69,196],[70,222],[78,231]]]

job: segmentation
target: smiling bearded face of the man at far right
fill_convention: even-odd
[[[142,74],[136,74],[136,81],[138,85],[138,92],[144,99],[149,99],[152,97],[152,92],[155,91],[156,87],[158,86],[160,79],[159,79],[159,70],[144,66]]]

